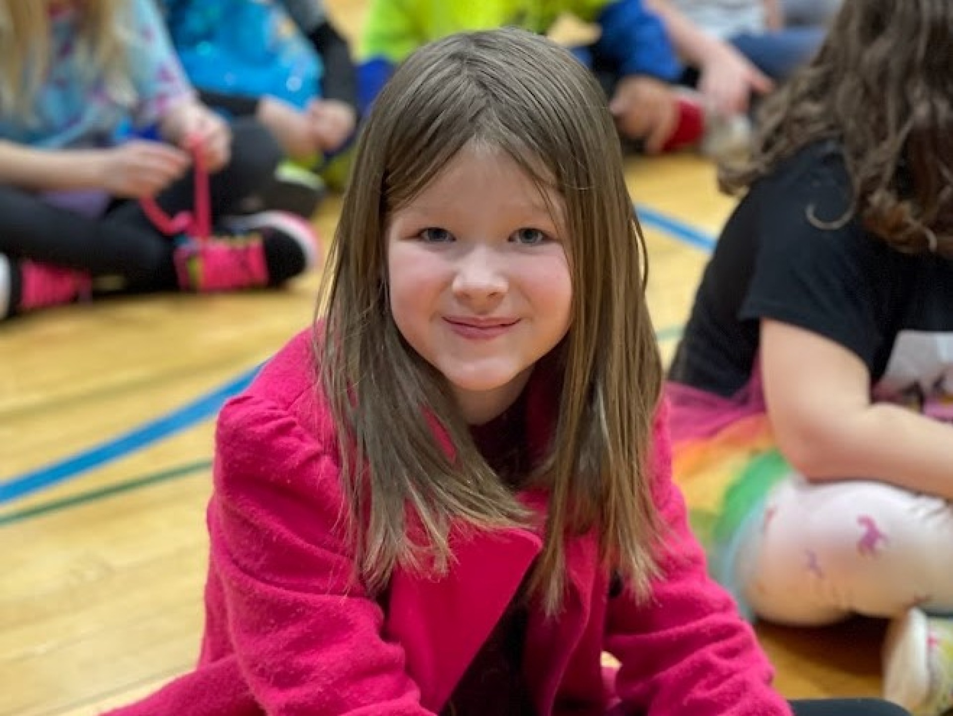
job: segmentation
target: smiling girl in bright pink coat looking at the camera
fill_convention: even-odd
[[[326,322],[220,416],[199,664],[116,713],[789,714],[670,480],[643,261],[569,52],[412,55],[358,140]]]

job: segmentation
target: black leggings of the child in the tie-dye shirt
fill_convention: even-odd
[[[280,157],[263,127],[251,120],[235,122],[232,161],[210,181],[213,222],[273,181]],[[191,211],[193,182],[190,172],[156,203],[169,215]],[[105,215],[89,218],[0,186],[0,254],[13,264],[30,259],[92,276],[118,276],[131,292],[168,290],[176,286],[172,238],[152,225],[137,201],[113,201]]]

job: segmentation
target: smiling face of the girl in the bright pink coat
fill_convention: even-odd
[[[509,407],[569,330],[569,237],[549,199],[556,216],[507,155],[467,147],[388,222],[397,328],[471,424]]]

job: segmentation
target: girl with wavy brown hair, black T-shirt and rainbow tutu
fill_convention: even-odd
[[[892,620],[885,693],[923,716],[953,706],[951,52],[948,0],[843,4],[727,177],[669,376],[720,579],[776,622]]]

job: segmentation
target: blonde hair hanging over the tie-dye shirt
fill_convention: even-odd
[[[51,66],[49,5],[47,0],[0,0],[0,112],[28,121]],[[82,0],[76,7],[85,79],[103,77],[117,96],[129,96],[130,0]]]

